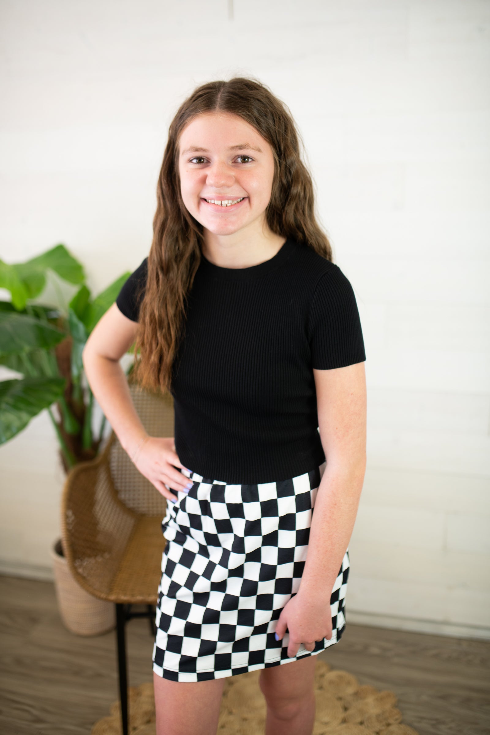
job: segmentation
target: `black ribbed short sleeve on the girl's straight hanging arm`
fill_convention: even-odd
[[[332,263],[314,290],[309,312],[311,367],[345,368],[364,362],[364,339],[356,296],[350,281]]]

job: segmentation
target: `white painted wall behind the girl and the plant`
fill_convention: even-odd
[[[287,102],[367,351],[347,622],[488,636],[490,4],[4,0],[0,16],[0,257],[65,243],[96,292],[148,253],[167,126],[196,85],[251,73]],[[50,576],[46,414],[0,463],[1,569]]]

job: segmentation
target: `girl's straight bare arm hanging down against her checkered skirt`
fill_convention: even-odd
[[[315,641],[331,639],[331,592],[352,535],[366,470],[364,362],[313,373],[326,467],[314,502],[300,589],[284,606],[276,627],[278,638],[289,630],[291,657],[300,643],[313,650]]]

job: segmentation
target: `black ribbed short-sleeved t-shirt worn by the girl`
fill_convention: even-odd
[[[116,304],[138,320],[148,258]],[[338,265],[287,240],[249,268],[201,256],[173,363],[176,453],[203,478],[256,484],[325,460],[312,368],[364,362],[356,297]]]

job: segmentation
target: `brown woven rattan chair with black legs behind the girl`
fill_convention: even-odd
[[[129,390],[148,434],[173,437],[172,396],[153,395],[131,383]],[[123,735],[129,720],[125,625],[131,617],[149,617],[156,635],[166,506],[113,431],[96,459],[71,470],[63,490],[61,535],[68,567],[83,589],[115,603]],[[147,610],[131,612],[131,605]]]

